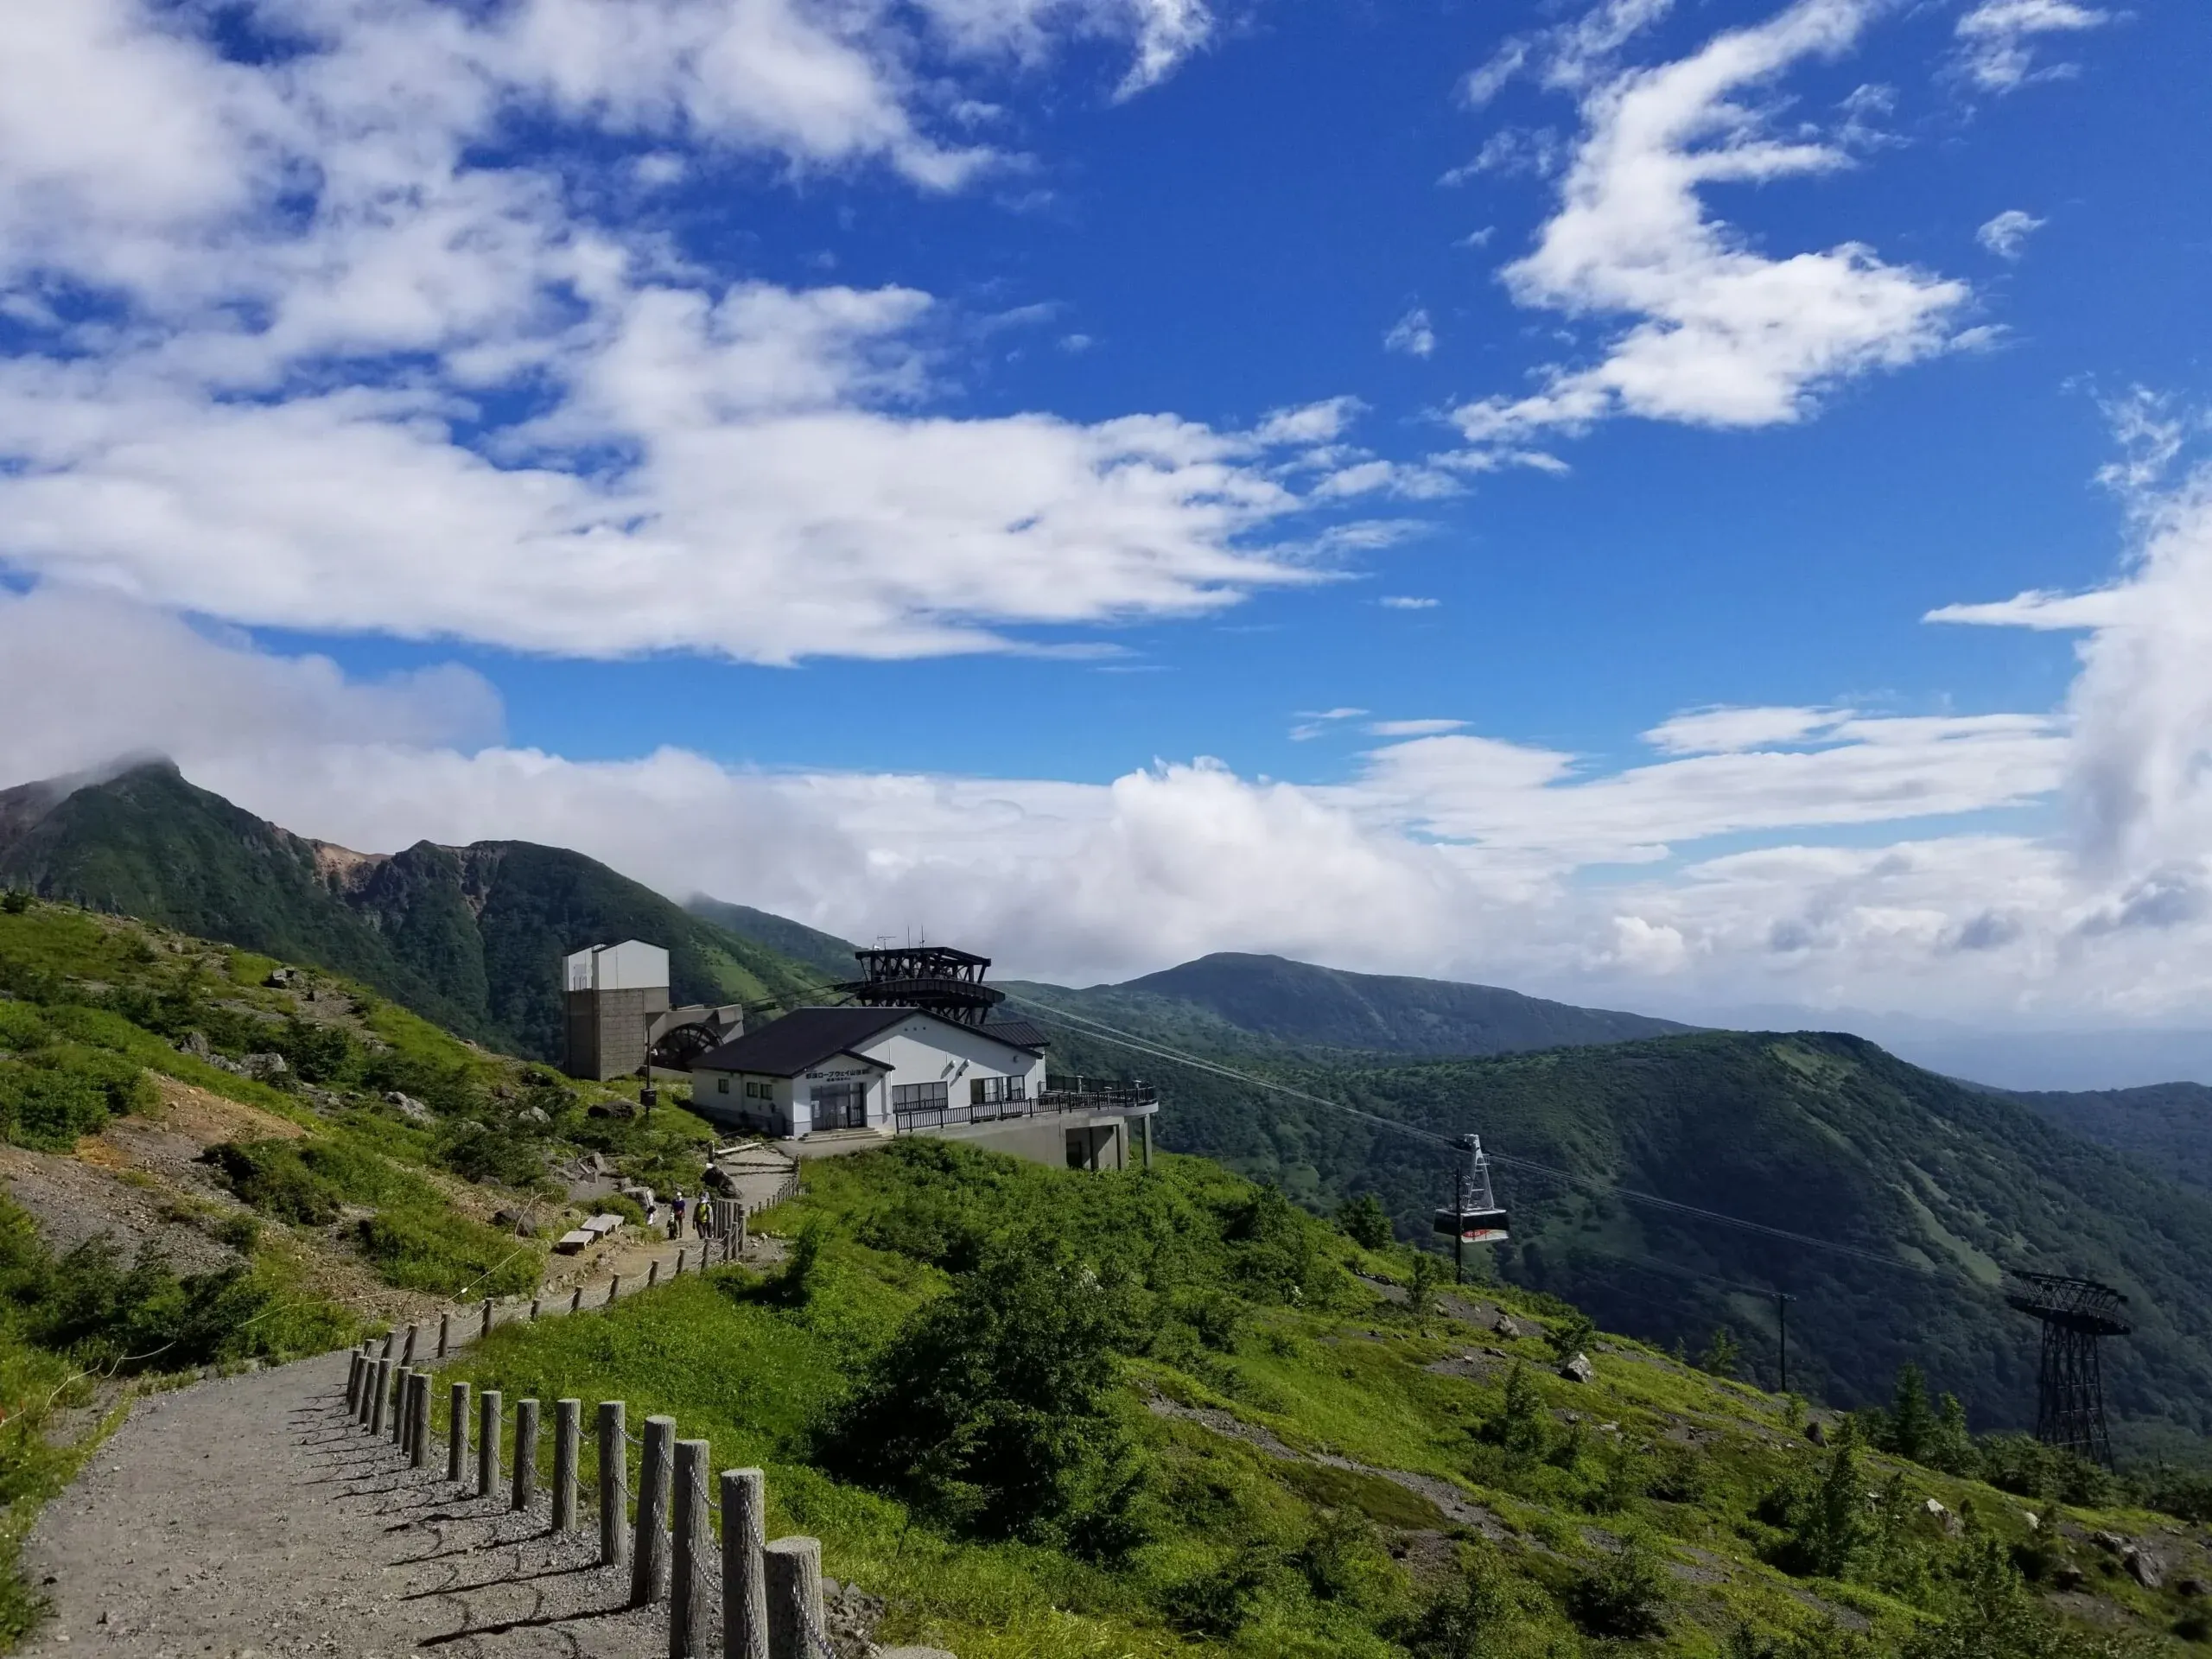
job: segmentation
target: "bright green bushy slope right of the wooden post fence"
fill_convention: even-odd
[[[507,1327],[456,1369],[509,1400],[670,1413],[712,1467],[765,1467],[770,1533],[818,1535],[830,1575],[883,1595],[880,1641],[2059,1659],[2179,1652],[2174,1586],[2208,1571],[2168,1520],[1971,1478],[2033,1484],[2006,1447],[1953,1436],[1929,1453],[1953,1473],[1825,1451],[1792,1402],[1599,1340],[1542,1296],[1416,1312],[1411,1252],[1197,1159],[1093,1177],[902,1141],[812,1164],[765,1225],[803,1265]],[[1500,1307],[1515,1329],[1493,1329]],[[1559,1374],[1575,1349],[1588,1383]],[[885,1387],[887,1438],[922,1425],[911,1467],[849,1438]],[[1829,1418],[1825,1438],[1847,1433]],[[1009,1447],[1031,1455],[993,1460]],[[2168,1588],[2090,1531],[2154,1540]],[[2081,1590],[2048,1595],[2075,1573]]]

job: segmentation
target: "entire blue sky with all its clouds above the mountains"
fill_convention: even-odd
[[[2201,9],[97,0],[9,58],[15,776],[161,748],[1071,978],[2212,982]]]

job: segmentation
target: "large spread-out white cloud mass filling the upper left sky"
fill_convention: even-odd
[[[916,18],[270,0],[285,53],[246,62],[135,0],[40,11],[0,64],[27,327],[0,562],[257,626],[750,661],[1020,648],[1310,580],[1312,546],[1267,544],[1303,504],[1276,451],[1352,400],[1256,434],[942,416],[931,296],[717,281],[509,144],[531,119],[956,188],[995,157],[936,133],[945,75],[1115,38],[1157,80],[1206,33],[1192,0]]]

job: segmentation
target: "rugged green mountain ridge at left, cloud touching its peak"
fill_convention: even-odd
[[[560,958],[646,938],[677,1002],[803,1002],[825,975],[529,841],[358,854],[265,823],[168,763],[0,794],[0,885],[345,973],[467,1037],[555,1057]]]

